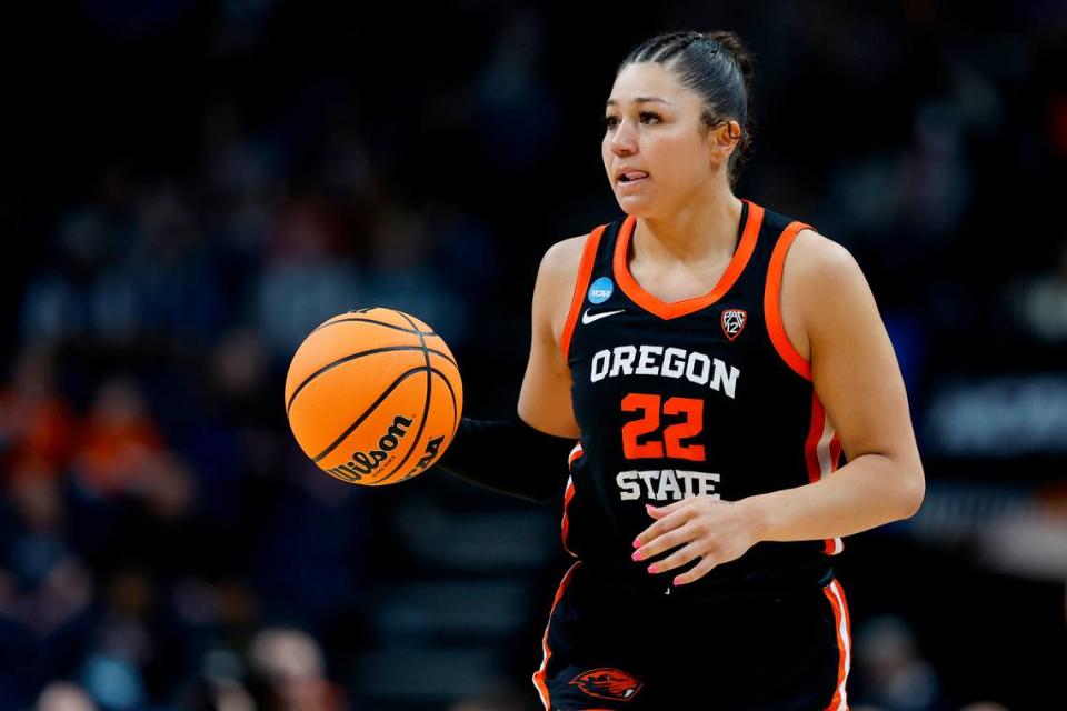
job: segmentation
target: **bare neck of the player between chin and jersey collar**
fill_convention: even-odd
[[[655,261],[718,259],[734,253],[741,201],[727,187],[669,216],[638,218],[635,251]]]

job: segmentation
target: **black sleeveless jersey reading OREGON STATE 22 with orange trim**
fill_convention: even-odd
[[[840,442],[786,337],[779,310],[789,244],[808,226],[744,201],[729,267],[704,297],[665,303],[629,271],[632,216],[587,238],[564,331],[575,415],[564,545],[592,573],[679,598],[777,594],[825,584],[840,539],[760,542],[671,588],[631,542],[645,503],[737,501],[829,475]]]

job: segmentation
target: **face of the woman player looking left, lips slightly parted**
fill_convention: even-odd
[[[658,62],[628,64],[616,77],[600,152],[627,214],[677,213],[725,180],[717,131],[700,130],[702,110],[700,97]]]

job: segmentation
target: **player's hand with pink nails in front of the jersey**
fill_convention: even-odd
[[[692,570],[675,578],[675,584],[681,585],[699,580],[719,563],[740,558],[758,542],[755,521],[741,503],[699,495],[667,507],[646,504],[648,514],[658,520],[634,541],[640,555],[636,559],[638,564],[680,545],[664,560],[652,563],[654,570],[649,572],[665,573],[701,558]]]

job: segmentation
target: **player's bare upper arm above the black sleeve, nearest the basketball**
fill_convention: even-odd
[[[541,259],[534,287],[530,359],[518,403],[519,417],[527,424],[569,438],[579,432],[570,401],[570,369],[560,344],[585,242],[586,237],[564,240]]]

